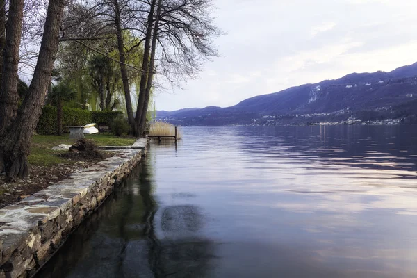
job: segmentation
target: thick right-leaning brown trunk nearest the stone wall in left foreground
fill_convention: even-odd
[[[4,166],[8,177],[28,174],[29,147],[33,131],[38,124],[42,105],[47,95],[52,67],[58,51],[60,20],[65,0],[49,0],[42,42],[28,95],[19,107],[18,117],[0,142],[0,169]]]

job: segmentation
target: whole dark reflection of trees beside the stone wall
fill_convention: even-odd
[[[145,161],[37,277],[206,277],[213,243],[196,236],[202,214],[189,205],[158,208],[154,187]]]

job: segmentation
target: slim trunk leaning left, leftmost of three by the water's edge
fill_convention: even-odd
[[[126,55],[124,53],[122,22],[120,22],[120,6],[119,6],[118,0],[113,0],[113,5],[115,8],[117,49],[119,51],[120,74],[122,75],[124,99],[126,101],[127,119],[129,120],[129,124],[133,126],[135,122],[135,117],[133,117],[132,101],[131,101],[130,87],[129,87],[129,78],[127,76],[127,70],[126,70]]]

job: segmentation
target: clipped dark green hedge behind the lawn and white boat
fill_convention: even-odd
[[[67,126],[83,126],[95,122],[100,125],[111,126],[115,117],[122,117],[120,111],[88,111],[76,108],[63,108],[63,131],[70,132]],[[56,107],[44,106],[40,115],[36,132],[42,135],[56,133]]]

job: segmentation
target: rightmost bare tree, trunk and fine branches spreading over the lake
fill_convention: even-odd
[[[209,13],[211,7],[211,0],[158,1],[154,24],[148,25],[148,31],[149,28],[153,28],[152,53],[149,66],[145,67],[142,63],[142,71],[147,74],[147,78],[140,81],[136,135],[141,136],[145,129],[152,79],[156,68],[156,51],[160,53],[159,74],[164,74],[168,80],[180,76],[192,78],[199,72],[204,60],[217,56],[211,39],[221,32],[213,25]],[[146,85],[142,85],[142,82]]]

